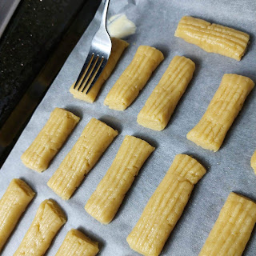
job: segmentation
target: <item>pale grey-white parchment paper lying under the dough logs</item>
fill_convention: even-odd
[[[34,201],[22,216],[17,228],[6,244],[2,255],[12,255],[22,241],[26,230],[34,218],[39,204],[46,198],[53,198],[65,210],[68,222],[58,233],[47,251],[54,255],[71,228],[84,231],[90,238],[100,244],[99,255],[138,255],[130,249],[126,237],[142,214],[146,202],[153,194],[159,182],[165,176],[174,156],[179,153],[191,154],[204,166],[207,174],[195,186],[182,218],[178,221],[162,255],[198,255],[214,222],[218,218],[228,194],[235,191],[256,200],[256,176],[250,167],[250,157],[256,149],[256,89],[246,99],[245,106],[228,132],[221,150],[213,153],[203,150],[186,139],[187,132],[194,127],[205,112],[211,98],[218,89],[224,73],[243,74],[256,80],[256,3],[248,1],[154,1],[154,0],[112,0],[110,15],[125,13],[138,26],[136,34],[127,38],[129,48],[103,86],[96,102],[93,104],[74,99],[69,93],[70,85],[78,77],[82,68],[90,40],[97,29],[98,14],[74,48],[66,64],[55,79],[29,124],[19,138],[14,149],[0,171],[0,197],[12,178],[22,178],[37,192]],[[208,54],[197,46],[174,38],[174,30],[184,15],[205,18],[210,22],[232,26],[251,35],[251,43],[241,62],[218,54]],[[146,87],[134,103],[124,112],[109,110],[103,106],[104,98],[122,71],[130,63],[138,46],[149,45],[162,50],[165,60],[154,72]],[[169,125],[161,132],[138,126],[136,117],[146,98],[157,85],[162,74],[175,55],[184,55],[196,63],[194,78],[182,100],[179,102]],[[54,107],[62,107],[78,114],[82,119],[62,150],[51,162],[50,168],[42,174],[27,169],[20,157],[42,129]],[[62,201],[46,186],[63,158],[70,151],[82,133],[90,118],[99,118],[119,131],[118,137],[94,169],[90,171],[72,198]],[[156,147],[146,161],[122,203],[114,221],[103,226],[84,210],[90,194],[102,179],[122,140],[126,134],[132,134],[150,142]],[[254,229],[255,231],[255,229]],[[244,255],[253,256],[256,251],[256,234],[252,234]]]

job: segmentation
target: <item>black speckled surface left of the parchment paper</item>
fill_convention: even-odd
[[[100,0],[24,0],[0,41],[0,166]]]

